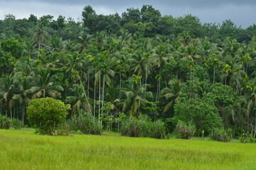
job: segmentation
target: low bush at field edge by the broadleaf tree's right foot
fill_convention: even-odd
[[[220,142],[230,142],[232,140],[232,130],[216,129],[213,130],[211,138]]]

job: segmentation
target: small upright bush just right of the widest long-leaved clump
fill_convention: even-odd
[[[178,124],[176,126],[176,132],[177,132],[177,137],[180,139],[185,139],[189,140],[191,137],[194,136],[194,133],[196,132],[196,128],[194,125],[187,125],[183,121],[179,120]]]

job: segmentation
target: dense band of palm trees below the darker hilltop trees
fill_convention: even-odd
[[[116,113],[148,114],[143,108],[155,102],[166,118],[173,115],[182,86],[198,86],[195,68],[203,67],[209,78],[201,90],[216,82],[230,86],[236,94],[230,122],[250,129],[256,121],[255,55],[255,39],[243,44],[227,38],[216,44],[189,32],[171,39],[122,30],[82,31],[77,40],[62,40],[38,28],[33,38],[23,40],[13,67],[1,74],[0,112],[24,122],[30,100],[49,96],[70,103],[71,115],[83,110],[100,119],[106,102]]]

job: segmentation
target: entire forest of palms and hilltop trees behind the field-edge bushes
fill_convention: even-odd
[[[256,27],[161,16],[152,6],[82,21],[33,14],[0,21],[0,114],[26,122],[33,98],[70,103],[119,129],[130,116],[177,123],[196,135],[256,132]],[[183,124],[182,124],[183,125]]]

